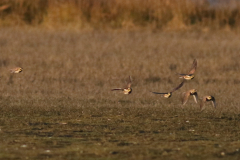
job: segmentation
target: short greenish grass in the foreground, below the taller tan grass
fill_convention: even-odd
[[[55,105],[46,109],[45,105],[52,101]],[[1,109],[1,159],[238,159],[240,156],[239,114],[213,109],[200,113],[190,106],[182,110],[153,103],[139,106],[133,101],[127,104],[105,101],[100,105],[96,101],[90,105],[77,99],[62,102],[52,99],[32,106],[28,103]]]

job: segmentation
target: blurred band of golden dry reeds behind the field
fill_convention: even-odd
[[[78,29],[235,29],[240,3],[207,0],[2,0],[0,26]]]

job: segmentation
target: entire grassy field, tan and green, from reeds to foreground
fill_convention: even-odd
[[[0,29],[0,159],[239,159],[232,32]],[[168,92],[198,60],[196,78]],[[11,74],[12,67],[23,67]],[[133,92],[111,92],[133,79]],[[180,95],[195,88],[217,108]]]

